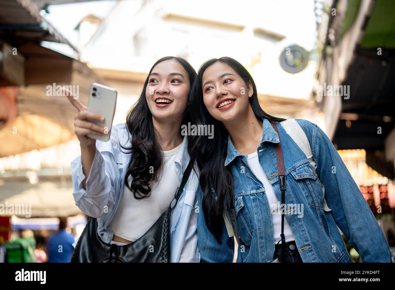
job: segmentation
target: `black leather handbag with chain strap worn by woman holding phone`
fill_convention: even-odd
[[[181,196],[191,170],[192,165],[189,163],[169,208],[162,213],[143,236],[133,243],[118,246],[103,242],[97,232],[98,224],[96,218],[89,217],[87,225],[77,245],[75,245],[70,263],[168,263],[170,260],[170,213]]]

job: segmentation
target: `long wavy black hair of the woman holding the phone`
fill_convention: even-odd
[[[130,152],[127,153],[133,154],[133,158],[130,161],[129,168],[125,175],[125,185],[133,192],[136,199],[148,198],[150,196],[151,188],[149,182],[157,180],[162,165],[163,158],[161,148],[155,137],[156,130],[152,122],[152,114],[148,107],[145,91],[147,90],[152,69],[165,60],[175,60],[182,65],[188,74],[190,89],[196,77],[195,69],[186,60],[176,56],[165,56],[152,65],[139,99],[128,111],[126,126],[132,136],[132,144],[130,147],[124,147],[122,145],[121,147],[130,150]],[[189,99],[190,94],[188,94],[188,103]],[[187,124],[188,122],[190,122],[190,112],[187,106],[182,118],[182,124]],[[130,175],[133,180],[129,184],[128,177]]]

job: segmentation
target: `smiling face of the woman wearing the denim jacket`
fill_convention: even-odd
[[[215,62],[202,75],[203,102],[213,118],[221,122],[237,119],[248,109],[252,85],[229,65]]]

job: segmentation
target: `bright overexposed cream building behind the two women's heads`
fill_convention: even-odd
[[[210,11],[221,11],[212,14],[182,3],[120,1],[105,19],[98,21],[87,15],[78,24],[78,34],[84,36],[78,44],[81,60],[120,93],[117,122],[124,122],[126,110],[141,92],[151,65],[163,56],[177,55],[196,70],[210,58],[235,58],[254,78],[264,110],[286,118],[308,116],[312,122],[323,124],[311,98],[317,62],[308,61],[299,73],[288,73],[280,65],[282,51],[294,44],[287,30],[264,27],[258,15],[248,14],[255,5],[237,2],[236,7],[222,11],[220,3],[199,4],[210,7]],[[278,17],[278,22],[284,20]],[[273,23],[271,26],[276,27]],[[123,96],[125,106],[121,105]]]

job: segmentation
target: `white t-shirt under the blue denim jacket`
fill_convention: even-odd
[[[274,207],[274,213],[272,214],[272,224],[273,224],[273,235],[274,235],[274,242],[275,244],[280,241],[279,244],[281,244],[281,211],[280,211],[280,206],[278,203],[278,200],[276,198],[276,195],[273,191],[273,187],[271,186],[269,180],[267,179],[267,176],[265,172],[263,171],[259,159],[258,159],[258,152],[254,152],[252,154],[248,154],[247,157],[248,161],[248,167],[250,167],[250,170],[256,178],[258,178],[262,184],[263,187],[265,187],[265,193],[267,196],[267,201],[269,202],[269,209],[272,211]],[[281,202],[281,200],[280,200]],[[295,237],[292,234],[290,225],[288,225],[287,219],[284,217],[284,236],[285,236],[285,241],[295,241]]]

